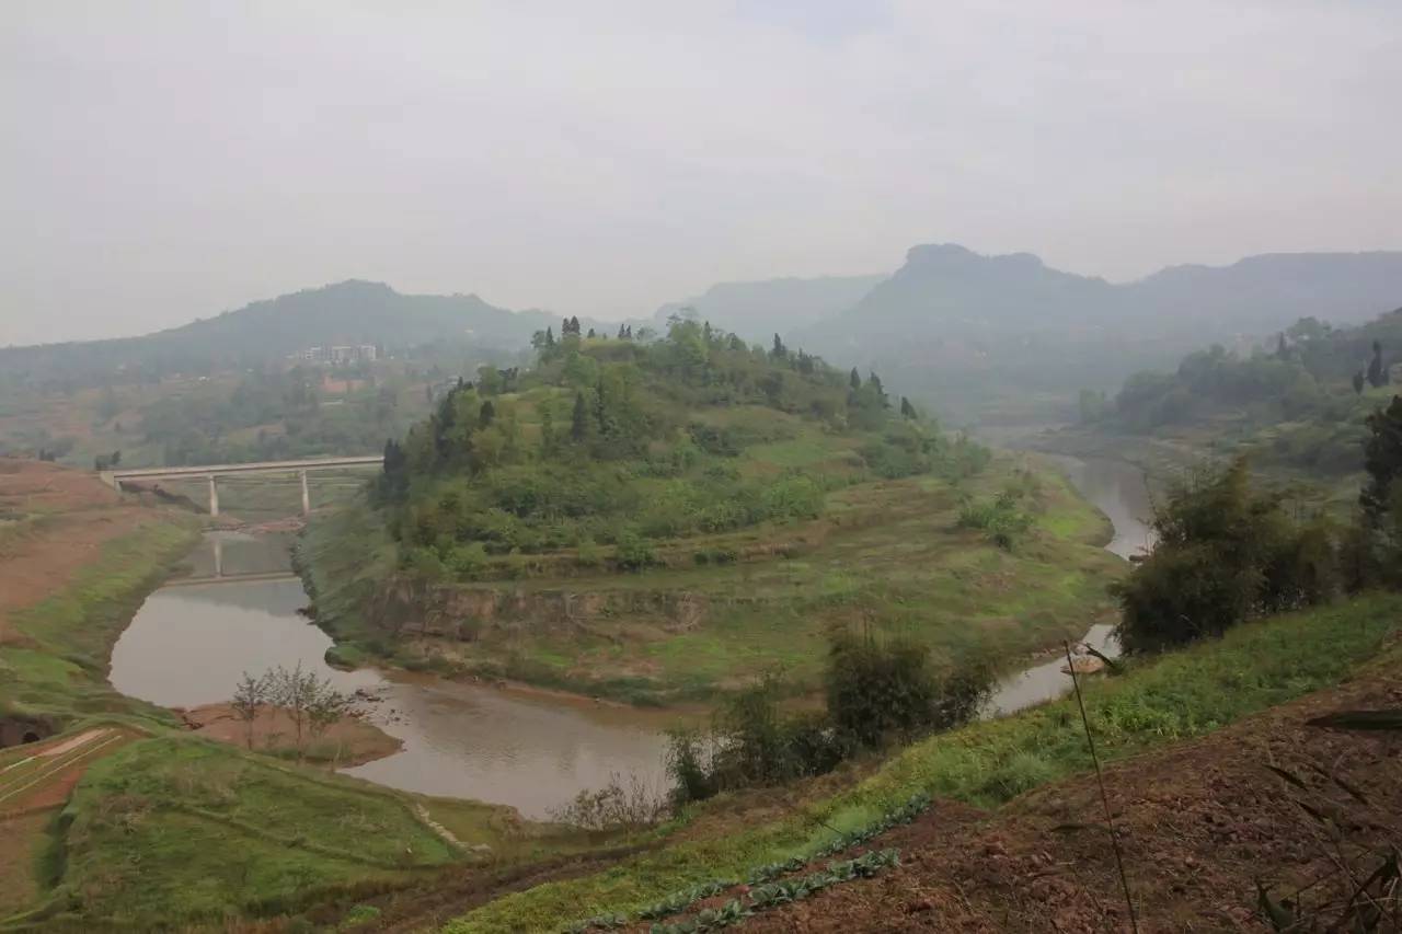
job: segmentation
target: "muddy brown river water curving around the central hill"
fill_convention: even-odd
[[[1147,492],[1137,471],[1064,459],[1088,499],[1115,522],[1108,547],[1127,555],[1147,543],[1140,516]],[[165,707],[227,701],[244,672],[299,662],[346,691],[383,700],[369,717],[404,747],[345,773],[405,791],[512,805],[548,818],[576,792],[637,776],[665,787],[665,731],[673,712],[637,710],[533,691],[449,682],[429,675],[362,669],[324,661],[331,638],[297,614],[307,597],[289,574],[287,540],[210,533],[189,558],[191,574],[153,593],[112,649],[112,684]],[[1109,627],[1087,642],[1113,652]],[[1063,662],[1005,679],[991,714],[1040,703],[1070,689]]]

